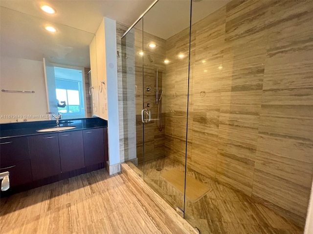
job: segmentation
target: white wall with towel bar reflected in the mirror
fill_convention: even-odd
[[[0,92],[0,115],[21,115],[22,118],[0,118],[0,123],[47,120],[31,116],[47,115],[43,61],[1,56],[0,89],[35,91],[34,94]]]

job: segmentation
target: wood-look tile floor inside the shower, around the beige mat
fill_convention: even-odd
[[[137,166],[142,171],[143,166]],[[157,171],[156,168],[162,169]],[[183,208],[183,195],[160,175],[162,172],[184,166],[168,157],[145,162],[145,180],[173,207]],[[201,174],[187,170],[189,176],[212,190],[197,202],[186,199],[185,218],[201,234],[302,234],[303,229],[276,214],[247,195],[228,188]],[[182,178],[184,179],[184,178]],[[186,185],[188,189],[188,184]]]

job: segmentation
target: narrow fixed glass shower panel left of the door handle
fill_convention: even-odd
[[[124,158],[143,177],[142,20],[122,38]]]

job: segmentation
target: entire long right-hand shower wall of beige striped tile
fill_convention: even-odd
[[[191,28],[187,167],[304,224],[313,176],[313,1],[237,1]],[[189,30],[166,40],[185,52]],[[163,79],[165,155],[184,162],[187,67]]]

